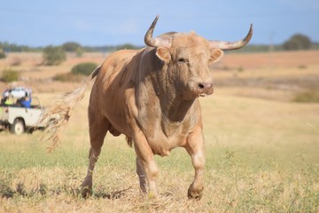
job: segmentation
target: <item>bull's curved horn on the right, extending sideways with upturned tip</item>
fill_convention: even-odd
[[[237,42],[222,42],[222,41],[210,41],[211,48],[221,49],[222,51],[237,50],[245,46],[246,43],[249,43],[250,39],[253,36],[253,24],[251,24],[247,36],[243,40]]]

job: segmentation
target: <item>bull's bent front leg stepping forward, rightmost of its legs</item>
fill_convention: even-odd
[[[200,126],[198,126],[187,138],[185,146],[187,152],[191,155],[191,162],[195,170],[195,177],[188,190],[188,197],[200,199],[204,190],[204,137]]]

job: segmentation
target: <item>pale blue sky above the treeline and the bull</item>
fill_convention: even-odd
[[[253,23],[251,43],[284,43],[296,33],[319,42],[318,0],[2,0],[0,42],[143,45],[156,14],[154,36],[194,30],[207,39],[236,41]]]

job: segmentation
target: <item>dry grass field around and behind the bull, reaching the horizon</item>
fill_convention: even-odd
[[[43,67],[41,54],[12,53],[4,68],[21,71],[43,102],[79,83],[51,81],[82,61],[68,56]],[[20,60],[12,67],[12,61]],[[205,194],[187,198],[193,169],[183,148],[159,165],[157,201],[139,193],[134,149],[108,135],[97,162],[93,196],[84,200],[89,91],[75,108],[58,148],[48,153],[42,131],[0,132],[0,212],[319,212],[319,104],[296,102],[319,91],[319,51],[227,53],[212,67],[214,95],[201,99],[206,138]],[[7,84],[1,83],[3,91]]]

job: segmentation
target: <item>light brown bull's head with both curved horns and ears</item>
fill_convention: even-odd
[[[144,36],[144,43],[156,47],[156,55],[167,65],[167,77],[182,91],[186,99],[213,93],[213,79],[209,65],[221,59],[223,51],[236,50],[248,43],[253,26],[243,40],[237,42],[209,41],[196,35],[168,33],[153,38],[152,33],[159,16],[156,16]]]

